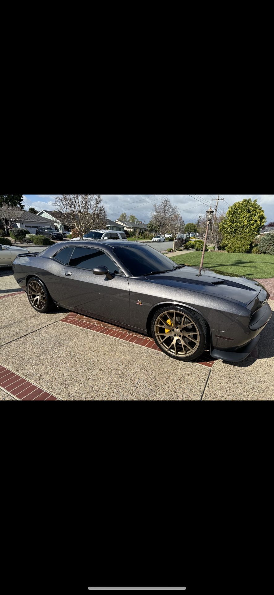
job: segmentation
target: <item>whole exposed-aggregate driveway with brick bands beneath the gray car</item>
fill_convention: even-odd
[[[81,317],[65,324],[66,318],[70,322],[65,310],[35,312],[5,272],[0,273],[0,400],[25,393],[22,400],[274,399],[274,318],[262,332],[258,359],[217,361],[213,367],[183,364],[140,345],[142,340],[131,343],[116,338],[122,333],[90,330],[95,325]],[[274,309],[274,301],[269,303]],[[17,399],[12,386],[18,387]]]

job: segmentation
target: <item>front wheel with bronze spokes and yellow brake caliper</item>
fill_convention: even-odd
[[[174,333],[169,327],[175,327]],[[191,362],[204,352],[208,331],[206,322],[197,312],[167,304],[153,315],[152,336],[163,353],[180,361]]]

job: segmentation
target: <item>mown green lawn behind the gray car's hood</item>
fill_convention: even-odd
[[[201,252],[187,252],[173,256],[177,264],[200,265]],[[267,279],[274,277],[274,256],[270,254],[237,254],[231,252],[205,252],[204,268],[215,273],[242,275],[247,278]]]

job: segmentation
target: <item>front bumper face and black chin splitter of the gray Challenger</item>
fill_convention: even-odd
[[[222,359],[226,362],[241,362],[245,358],[250,355],[253,351],[254,347],[256,347],[257,343],[260,339],[260,333],[262,332],[263,328],[267,325],[270,318],[272,317],[272,309],[269,306],[269,303],[264,303],[262,308],[258,309],[250,318],[249,322],[249,329],[251,331],[251,336],[253,338],[246,344],[241,347],[234,347],[231,351],[229,350],[221,350],[215,349],[212,345],[210,348],[210,355],[212,358],[215,359]]]

